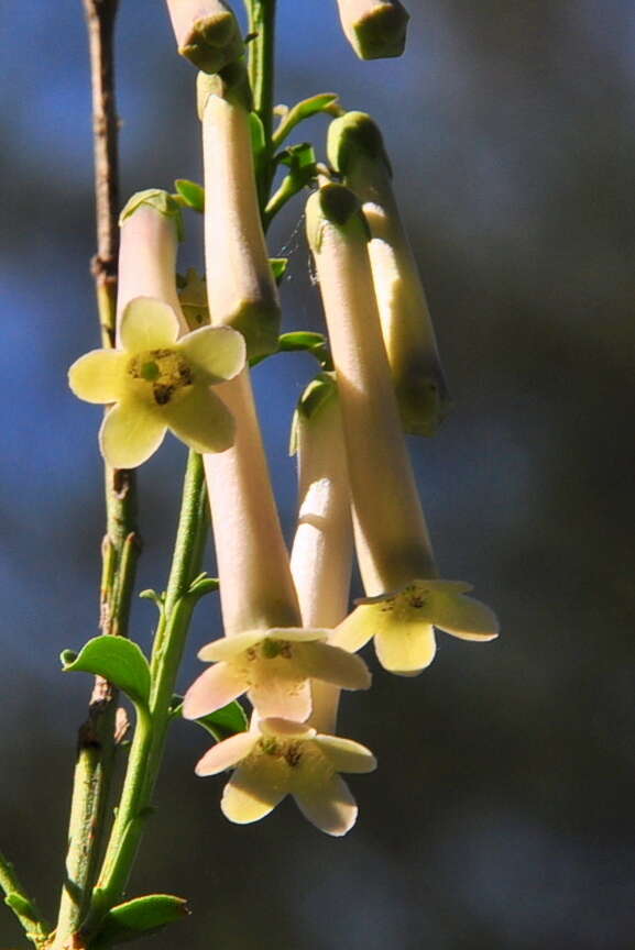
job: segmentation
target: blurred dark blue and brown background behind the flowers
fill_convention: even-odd
[[[3,5],[0,842],[51,914],[88,677],[64,648],[97,630],[100,412],[66,368],[98,345],[90,92],[78,0]],[[420,677],[375,671],[341,732],[373,748],[360,820],[331,840],[285,803],[237,828],[202,732],[174,728],[130,894],[190,898],[155,950],[578,950],[635,946],[635,13],[628,0],[410,3],[399,60],[360,63],[335,0],[280,0],[277,100],[339,91],[381,123],[453,396],[410,441],[442,574],[471,581],[503,633],[440,634]],[[121,0],[121,198],[200,178],[194,70],[157,0]],[[298,132],[324,155],[326,120]],[[321,328],[296,200],[285,329]],[[200,266],[189,222],[182,266]],[[308,357],[255,371],[287,537],[286,454]],[[141,473],[139,589],[161,587],[185,453]],[[209,570],[214,562],[209,559]],[[193,629],[218,633],[208,598]],[[134,606],[150,644],[154,608]],[[21,945],[9,912],[0,947]]]

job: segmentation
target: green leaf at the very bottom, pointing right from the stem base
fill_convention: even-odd
[[[107,950],[112,943],[124,943],[135,940],[142,934],[161,930],[188,914],[183,897],[174,897],[172,894],[134,897],[108,912],[90,947],[92,950]]]

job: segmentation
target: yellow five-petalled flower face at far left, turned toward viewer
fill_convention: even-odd
[[[177,342],[178,320],[167,303],[131,300],[121,318],[120,350],[94,350],[68,372],[70,388],[88,402],[117,404],[99,443],[113,468],[145,462],[171,429],[196,452],[225,452],[234,423],[210,386],[244,365],[244,341],[228,328],[204,327]]]

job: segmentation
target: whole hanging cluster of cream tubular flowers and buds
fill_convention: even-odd
[[[398,0],[338,3],[360,57],[401,54],[408,14]],[[267,140],[251,112],[227,4],[168,7],[180,52],[205,70],[205,279],[189,270],[179,299],[178,203],[165,192],[135,196],[121,221],[117,346],[77,361],[70,386],[88,401],[114,404],[100,434],[110,465],[141,464],[166,429],[204,454],[223,636],[200,651],[211,665],[187,691],[183,715],[200,719],[243,694],[253,712],[249,731],[211,748],[197,774],[231,770],[221,807],[232,821],[255,821],[292,795],[310,821],[339,836],[357,818],[340,773],[376,764],[365,747],[336,734],[340,692],[371,685],[357,651],[374,639],[381,665],[412,676],[434,659],[435,629],[486,641],[499,626],[467,596],[469,584],[439,578],[415,485],[404,431],[434,434],[448,393],[379,128],[324,96],[286,110]],[[245,353],[259,362],[294,349],[278,339],[261,213],[271,180],[256,174],[254,147],[256,156],[272,148],[311,110],[335,114],[330,166],[318,166],[306,145],[274,159],[291,169],[278,196],[307,181],[314,188],[307,236],[330,344],[329,354],[307,342],[311,334],[292,334],[322,372],[293,424],[299,510],[289,557],[245,364]],[[351,611],[353,554],[365,597]]]

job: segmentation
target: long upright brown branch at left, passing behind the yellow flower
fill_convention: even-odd
[[[118,0],[83,0],[90,48],[97,254],[91,269],[105,347],[116,345],[118,228],[118,118],[114,104],[113,32]],[[125,637],[139,553],[135,479],[106,466],[107,531],[102,544],[99,626]],[[78,732],[66,876],[53,948],[81,947],[79,931],[95,885],[103,838],[116,743],[117,691],[97,677],[88,717]]]

